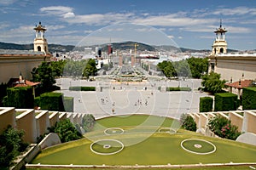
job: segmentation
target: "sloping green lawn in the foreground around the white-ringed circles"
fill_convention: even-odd
[[[86,134],[88,138],[42,150],[32,163],[53,165],[179,165],[256,161],[256,147],[249,144],[209,138],[183,129],[179,129],[177,133],[158,133],[158,129],[170,127],[172,122],[173,120],[169,118],[159,116],[150,116],[148,118],[148,116],[144,115],[104,118],[97,121],[93,132]],[[106,135],[104,131],[108,127],[122,128],[125,133]],[[156,132],[154,133],[155,130]],[[90,150],[90,144],[101,139],[119,140],[125,145],[125,148],[114,155],[98,155]],[[216,151],[212,154],[199,155],[183,150],[181,142],[185,139],[207,140],[216,146]],[[193,142],[201,144],[202,148],[204,147],[204,142],[197,142],[196,140]],[[197,149],[193,148],[194,143],[190,144],[191,146],[188,143],[186,147],[191,147],[196,152]],[[208,147],[211,148],[212,146]],[[98,149],[100,148],[98,147]],[[102,152],[106,150],[108,149],[102,147]],[[198,151],[200,152],[200,149]],[[234,168],[222,167],[220,169]],[[241,167],[239,169],[250,168]]]

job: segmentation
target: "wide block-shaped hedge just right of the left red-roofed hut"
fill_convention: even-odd
[[[63,105],[63,94],[44,93],[40,95],[40,107],[42,110],[65,111]]]

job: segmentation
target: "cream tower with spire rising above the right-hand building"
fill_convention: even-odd
[[[214,31],[216,39],[212,44],[212,54],[226,54],[227,53],[227,42],[225,41],[225,28],[222,27],[222,20],[220,20],[219,28]]]

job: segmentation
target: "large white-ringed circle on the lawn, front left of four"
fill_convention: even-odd
[[[122,142],[115,139],[101,139],[90,144],[90,150],[102,156],[119,153],[124,147]]]

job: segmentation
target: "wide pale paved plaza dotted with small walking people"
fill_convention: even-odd
[[[74,98],[74,112],[90,113],[96,118],[125,114],[152,114],[179,118],[183,113],[198,112],[201,80],[115,82],[110,80],[57,79],[61,93]],[[70,86],[92,86],[95,92],[69,91]],[[165,92],[166,87],[189,87],[190,92]]]

